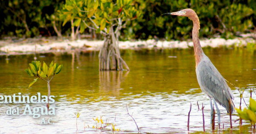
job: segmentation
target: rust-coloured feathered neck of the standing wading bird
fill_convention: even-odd
[[[192,40],[193,40],[194,51],[195,51],[195,67],[197,67],[198,63],[201,61],[202,53],[204,53],[198,37],[200,22],[196,14],[193,16],[190,16],[189,18],[193,21]]]

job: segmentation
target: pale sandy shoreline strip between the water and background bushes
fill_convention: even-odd
[[[219,46],[244,46],[249,42],[255,43],[255,39],[252,37],[256,33],[246,34],[241,38],[235,39],[201,39],[202,47],[219,47]],[[0,40],[0,55],[16,55],[16,54],[31,54],[31,53],[51,53],[51,52],[69,52],[75,49],[81,49],[85,51],[98,51],[102,46],[102,40],[87,40],[79,39],[76,41],[70,41],[68,39],[60,40],[56,38],[38,38],[38,39],[23,39],[23,40]],[[192,47],[192,40],[189,41],[156,41],[154,39],[149,39],[146,41],[120,41],[120,49],[152,49],[156,48],[182,48],[186,49]]]

